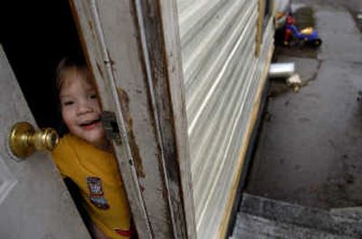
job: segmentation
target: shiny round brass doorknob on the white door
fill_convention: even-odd
[[[9,146],[18,158],[27,158],[35,150],[51,151],[59,142],[58,133],[55,129],[46,128],[36,130],[27,122],[14,124],[11,129]]]

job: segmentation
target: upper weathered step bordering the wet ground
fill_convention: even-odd
[[[277,223],[306,227],[328,234],[362,238],[361,220],[319,208],[243,194],[239,211],[243,215],[255,215]]]

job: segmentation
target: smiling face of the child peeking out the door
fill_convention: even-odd
[[[71,134],[102,148],[104,129],[100,123],[100,102],[86,74],[71,69],[65,72],[60,91],[62,119]]]

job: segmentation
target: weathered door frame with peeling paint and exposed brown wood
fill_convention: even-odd
[[[195,238],[176,0],[70,2],[139,238]]]

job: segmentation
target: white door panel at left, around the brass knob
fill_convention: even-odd
[[[0,238],[90,238],[49,153],[12,157],[10,129],[20,121],[35,127],[0,45]]]

